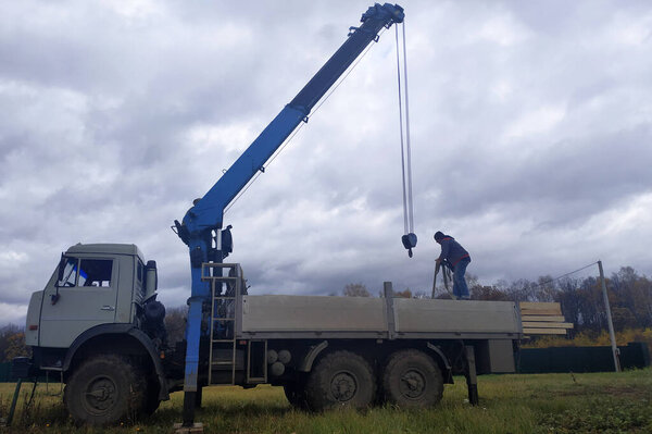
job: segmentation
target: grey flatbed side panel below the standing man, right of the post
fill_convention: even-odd
[[[521,333],[512,301],[393,300],[398,333]]]

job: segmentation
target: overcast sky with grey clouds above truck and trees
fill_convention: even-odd
[[[0,324],[24,323],[77,243],[136,244],[158,262],[159,299],[185,305],[173,221],[371,4],[1,2]],[[392,27],[225,214],[250,294],[429,292],[436,231],[484,284],[599,259],[652,275],[652,4],[400,4],[414,257]]]

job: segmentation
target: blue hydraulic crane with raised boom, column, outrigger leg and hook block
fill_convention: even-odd
[[[175,221],[176,232],[190,251],[192,287],[188,300],[186,328],[186,371],[184,383],[184,425],[193,423],[195,402],[198,393],[199,344],[201,337],[202,305],[210,300],[210,286],[202,282],[204,262],[222,262],[231,251],[230,226],[223,230],[225,208],[259,172],[265,162],[283,145],[303,121],[308,121],[313,107],[355,61],[362,51],[378,40],[378,33],[393,23],[402,23],[403,8],[398,4],[371,7],[361,18],[360,27],[351,27],[344,44],[322,66],[301,91],[267,125],[215,185],[186,213],[183,223]],[[214,235],[221,232],[221,240],[213,247]],[[405,248],[416,244],[416,236],[403,238]]]

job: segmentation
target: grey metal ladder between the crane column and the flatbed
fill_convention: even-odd
[[[226,273],[225,270],[228,270]],[[224,275],[226,274],[226,275]],[[211,334],[209,345],[209,385],[213,383],[213,370],[230,368],[230,384],[236,383],[236,310],[242,300],[244,278],[237,263],[203,263],[202,281],[211,282]],[[224,351],[230,350],[227,357]]]

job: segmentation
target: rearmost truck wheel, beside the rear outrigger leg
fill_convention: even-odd
[[[385,399],[405,408],[436,405],[443,394],[443,377],[437,363],[416,349],[394,352],[383,375]]]

